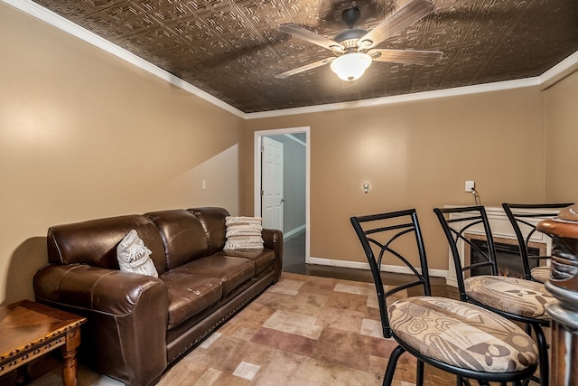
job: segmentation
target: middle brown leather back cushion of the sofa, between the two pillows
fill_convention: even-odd
[[[199,219],[184,209],[144,214],[161,233],[167,270],[209,255],[209,242]]]

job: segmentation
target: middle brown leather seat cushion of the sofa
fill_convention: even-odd
[[[255,276],[253,261],[219,254],[191,261],[178,269],[206,278],[219,278],[223,287],[223,298]]]

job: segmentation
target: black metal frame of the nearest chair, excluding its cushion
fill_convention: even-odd
[[[391,385],[394,373],[396,371],[396,363],[401,354],[405,352],[412,354],[417,359],[417,386],[422,386],[424,384],[424,363],[430,364],[433,367],[441,369],[445,372],[451,372],[455,374],[457,376],[458,385],[469,385],[469,379],[478,380],[480,385],[489,385],[489,381],[496,381],[501,383],[513,382],[516,385],[521,385],[522,380],[527,379],[527,377],[535,372],[536,366],[534,368],[527,369],[525,372],[476,372],[470,369],[463,369],[460,367],[448,365],[447,363],[439,362],[433,358],[424,356],[424,354],[415,351],[415,349],[407,345],[403,339],[396,336],[396,334],[389,326],[389,318],[387,315],[387,297],[390,297],[401,290],[420,286],[423,287],[424,296],[429,297],[432,294],[429,279],[429,269],[425,255],[424,240],[419,226],[419,221],[417,219],[417,213],[415,212],[415,209],[410,209],[405,211],[351,217],[350,221],[359,237],[361,246],[363,247],[368,259],[369,267],[371,268],[371,273],[378,293],[378,304],[379,312],[381,315],[383,335],[386,338],[393,337],[397,343],[397,347],[391,353],[389,362],[387,363],[387,370],[383,380],[384,385]],[[382,225],[386,221],[398,222],[392,225]],[[381,239],[378,240],[376,237],[378,233],[385,235],[383,239],[385,241],[382,241]],[[402,254],[392,245],[394,241],[399,240],[402,236],[411,235],[412,233],[415,235],[415,243],[419,257],[419,263],[421,266],[421,272],[410,263],[409,259],[406,259],[404,254]],[[374,247],[372,247],[372,245]],[[377,256],[374,253],[375,247],[379,249]],[[401,260],[413,273],[415,280],[385,290],[383,286],[383,280],[381,278],[381,266],[386,255],[391,255],[396,259]]]

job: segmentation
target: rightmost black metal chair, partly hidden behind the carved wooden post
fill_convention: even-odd
[[[524,278],[545,283],[550,278],[550,267],[541,262],[550,259],[549,256],[530,256],[528,253],[532,237],[536,231],[536,223],[545,219],[554,218],[558,212],[573,205],[573,203],[502,203],[502,208],[508,216],[509,222],[516,233],[520,249],[520,258],[524,268]],[[545,233],[545,237],[550,238]]]

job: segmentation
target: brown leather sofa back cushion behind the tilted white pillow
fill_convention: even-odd
[[[151,250],[154,268],[163,273],[166,259],[161,235],[153,221],[136,214],[52,226],[47,235],[48,260],[118,269],[117,246],[131,230]]]

